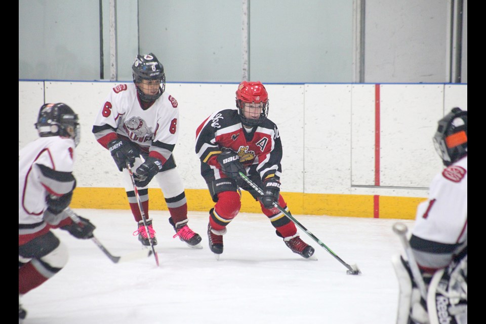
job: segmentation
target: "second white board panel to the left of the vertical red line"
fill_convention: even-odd
[[[349,193],[351,85],[306,85],[305,191]]]

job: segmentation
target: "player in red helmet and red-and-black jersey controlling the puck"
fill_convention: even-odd
[[[196,130],[195,151],[201,161],[201,175],[216,203],[209,212],[209,247],[217,255],[223,253],[226,226],[241,207],[241,188],[260,202],[263,214],[292,252],[310,258],[314,249],[300,238],[295,224],[273,206],[275,202],[289,211],[280,194],[280,134],[267,118],[269,100],[262,83],[240,83],[236,107],[212,113]],[[239,172],[263,188],[264,195],[260,197]]]

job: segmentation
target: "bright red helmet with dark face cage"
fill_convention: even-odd
[[[258,118],[247,118],[245,116],[245,104],[259,105],[261,113]],[[245,126],[260,125],[268,116],[268,93],[260,81],[248,82],[243,81],[238,85],[236,90],[236,108],[239,109],[241,124]]]

